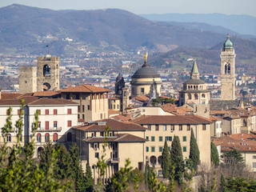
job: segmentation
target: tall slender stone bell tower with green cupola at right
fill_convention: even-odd
[[[223,45],[221,57],[221,97],[222,100],[235,99],[235,74],[234,74],[234,61],[235,54],[233,44],[230,42],[229,34],[227,35],[226,42]]]

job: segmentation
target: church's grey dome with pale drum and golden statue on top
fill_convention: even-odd
[[[146,95],[149,98],[158,98],[161,96],[162,80],[160,75],[148,65],[147,53],[145,54],[145,62],[131,77],[131,97],[138,95]]]

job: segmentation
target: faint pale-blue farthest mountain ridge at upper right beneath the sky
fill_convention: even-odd
[[[222,26],[239,34],[256,35],[256,17],[237,14],[140,14],[143,18],[162,22],[199,22]]]

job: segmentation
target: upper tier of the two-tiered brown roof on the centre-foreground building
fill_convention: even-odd
[[[99,123],[98,123],[99,122]],[[110,130],[119,130],[119,131],[124,131],[124,130],[142,130],[145,131],[147,130],[145,127],[138,125],[133,122],[118,122],[115,121],[114,119],[104,119],[101,121],[95,122],[94,124],[86,124],[82,126],[74,126],[73,128],[75,130],[84,130],[84,131],[104,131],[106,130],[106,127],[109,126]],[[106,122],[106,125],[100,125],[100,122]]]

